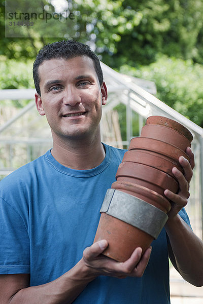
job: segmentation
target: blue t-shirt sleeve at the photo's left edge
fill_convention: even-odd
[[[30,273],[29,236],[20,214],[0,198],[0,274]]]

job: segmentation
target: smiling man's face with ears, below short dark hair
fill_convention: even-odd
[[[53,139],[80,139],[98,135],[106,85],[99,85],[93,60],[88,56],[45,60],[39,66],[40,115],[46,115]]]

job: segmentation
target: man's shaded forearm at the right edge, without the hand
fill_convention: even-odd
[[[195,286],[203,285],[203,242],[177,215],[165,224],[177,268],[182,277]]]

